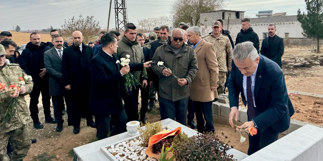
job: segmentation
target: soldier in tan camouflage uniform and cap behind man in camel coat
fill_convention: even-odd
[[[220,33],[221,22],[214,21],[212,24],[213,32],[207,35],[204,40],[214,45],[216,57],[219,66],[219,86],[217,93],[220,95],[224,91],[224,84],[226,81],[226,73],[231,70],[232,62],[232,46],[228,36]]]

